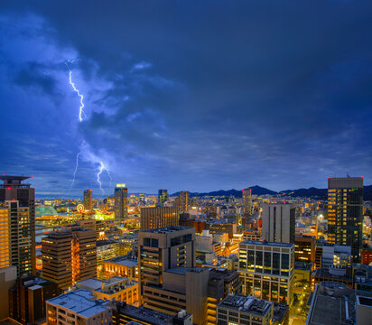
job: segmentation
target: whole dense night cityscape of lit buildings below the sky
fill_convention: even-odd
[[[35,202],[27,177],[0,179],[1,320],[372,322],[362,178],[329,179],[327,201],[251,189],[241,198],[128,195],[120,183],[104,200],[84,190],[82,201],[60,202],[71,209],[63,218],[35,217],[35,206],[53,203]]]

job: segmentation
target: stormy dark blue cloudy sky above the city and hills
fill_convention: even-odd
[[[370,13],[347,0],[2,1],[0,171],[33,174],[39,194],[101,194],[100,162],[134,192],[325,188],[347,172],[370,184]]]

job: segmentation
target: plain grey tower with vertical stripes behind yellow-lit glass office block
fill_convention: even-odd
[[[289,203],[266,203],[262,213],[262,238],[294,244],[296,207]]]

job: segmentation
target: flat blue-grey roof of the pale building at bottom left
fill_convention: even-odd
[[[60,306],[69,311],[78,313],[84,318],[89,318],[98,312],[107,311],[104,301],[92,301],[94,295],[88,290],[79,289],[75,292],[67,292],[58,297],[51,298],[49,301],[53,305]]]

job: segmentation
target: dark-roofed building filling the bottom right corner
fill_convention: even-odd
[[[371,315],[371,292],[359,292],[344,283],[324,281],[312,294],[306,325],[367,325],[371,323]]]

